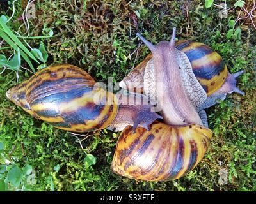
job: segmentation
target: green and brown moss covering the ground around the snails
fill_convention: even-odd
[[[255,30],[250,24],[239,24],[241,39],[225,37],[228,19],[220,24],[217,8],[204,8],[200,1],[42,1],[36,4],[36,19],[31,22],[31,35],[38,36],[53,29],[54,38],[44,39],[49,53],[48,65],[74,64],[88,71],[95,80],[115,82],[131,71],[149,53],[134,39],[143,33],[153,43],[169,40],[172,27],[179,39],[200,41],[221,54],[231,73],[245,70],[238,87],[246,95],[230,94],[220,104],[209,108],[209,126],[214,131],[209,150],[202,162],[186,177],[170,182],[137,182],[114,175],[110,163],[117,137],[111,131],[92,133],[81,144],[66,131],[36,120],[6,99],[5,92],[17,84],[15,73],[0,75],[0,163],[8,159],[20,168],[30,164],[36,173],[37,191],[255,191]],[[85,2],[85,1],[84,1]],[[235,2],[235,1],[234,1]],[[229,5],[233,1],[228,2]],[[18,6],[19,7],[19,6]],[[189,18],[187,17],[188,9]],[[21,15],[19,7],[14,19]],[[10,16],[11,11],[7,11]],[[236,13],[230,13],[236,19]],[[13,23],[13,29],[22,22]],[[130,38],[130,29],[131,37]],[[28,40],[38,47],[40,40]],[[11,54],[11,50],[3,50]],[[132,54],[134,52],[134,54]],[[132,54],[132,55],[131,55]],[[26,66],[26,64],[23,65]],[[20,81],[31,74],[19,73]],[[80,137],[83,138],[83,137]],[[84,164],[86,154],[97,163]],[[60,166],[58,171],[55,166]],[[227,170],[227,184],[220,184],[220,170]],[[0,177],[1,181],[1,177]]]

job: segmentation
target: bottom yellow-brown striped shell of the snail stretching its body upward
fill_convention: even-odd
[[[150,131],[132,126],[122,131],[111,164],[113,173],[138,180],[174,180],[204,157],[212,131],[204,126],[169,126],[154,122]]]

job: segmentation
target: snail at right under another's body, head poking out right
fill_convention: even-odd
[[[143,40],[145,39],[143,38]],[[178,40],[175,42],[175,47],[179,55],[179,68],[188,67],[192,69],[193,74],[190,73],[190,75],[194,77],[194,81],[196,78],[202,87],[200,89],[195,81],[197,87],[194,88],[194,91],[201,90],[203,99],[200,103],[194,103],[194,106],[200,114],[204,126],[208,126],[207,115],[204,112],[205,108],[215,105],[218,99],[223,101],[228,93],[237,92],[244,95],[244,92],[236,87],[236,78],[243,74],[244,71],[230,74],[221,56],[203,43]],[[150,96],[154,101],[156,97],[156,89],[154,87],[156,87],[157,82],[156,77],[154,77],[154,69],[154,59],[152,59],[152,53],[150,53],[120,82],[120,87]],[[193,88],[193,85],[189,87]],[[188,96],[191,101],[195,98],[191,94],[191,90],[188,91]]]

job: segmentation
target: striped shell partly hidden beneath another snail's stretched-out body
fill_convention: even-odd
[[[228,69],[221,56],[203,43],[191,40],[176,41],[175,47],[184,52],[191,63],[193,73],[207,96],[220,89],[228,75]],[[120,82],[120,86],[129,91],[143,93],[143,77],[147,62],[152,59],[152,53],[134,68]],[[129,85],[128,85],[129,84]],[[132,84],[134,84],[132,86]]]

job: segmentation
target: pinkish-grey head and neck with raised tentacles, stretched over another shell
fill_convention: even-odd
[[[152,45],[140,34],[137,34],[153,54],[152,59],[154,60],[157,82],[157,105],[161,108],[166,124],[184,125],[194,123],[203,125],[193,102],[189,99],[188,92],[190,89],[186,90],[188,86],[184,85],[193,84],[197,80],[195,77],[191,77],[188,71],[184,70],[186,67],[180,68],[178,64],[177,56],[180,55],[180,52],[175,48],[175,31],[176,29],[173,28],[170,42],[161,41],[157,45]],[[182,82],[181,79],[185,82]],[[206,94],[205,92],[202,93]],[[205,96],[198,97],[200,100],[201,98],[206,99]]]

